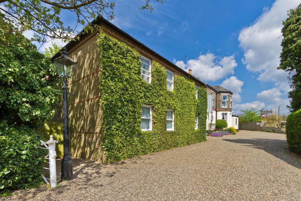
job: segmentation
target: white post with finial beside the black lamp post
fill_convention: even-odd
[[[57,141],[53,140],[53,136],[50,136],[50,140],[48,140],[48,152],[49,152],[49,172],[50,172],[50,187],[54,188],[56,187],[57,181],[56,181],[56,164],[55,164],[55,143],[58,143]]]

